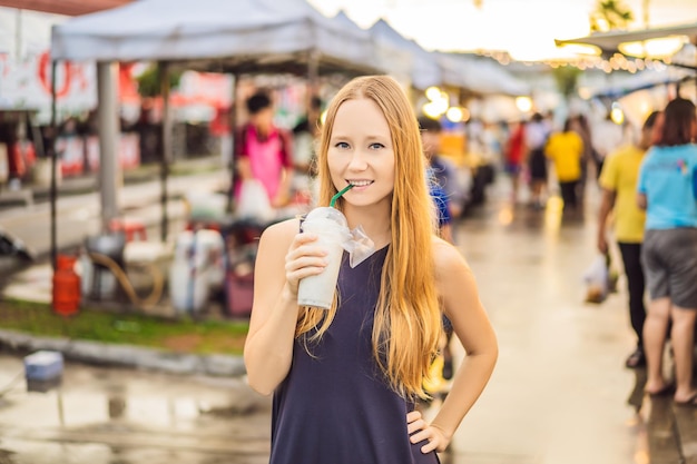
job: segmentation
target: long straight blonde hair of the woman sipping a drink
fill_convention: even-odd
[[[330,138],[338,108],[354,99],[370,99],[380,107],[390,126],[395,154],[392,241],[375,308],[373,355],[395,392],[404,397],[425,397],[422,385],[442,330],[432,251],[433,201],[425,180],[419,124],[406,95],[393,78],[355,78],[330,103],[317,150],[318,204],[328,205],[337,191],[328,171]],[[335,206],[342,209],[343,199]],[[303,308],[296,336],[316,329],[308,338],[321,338],[335,314],[336,304],[330,312]]]

